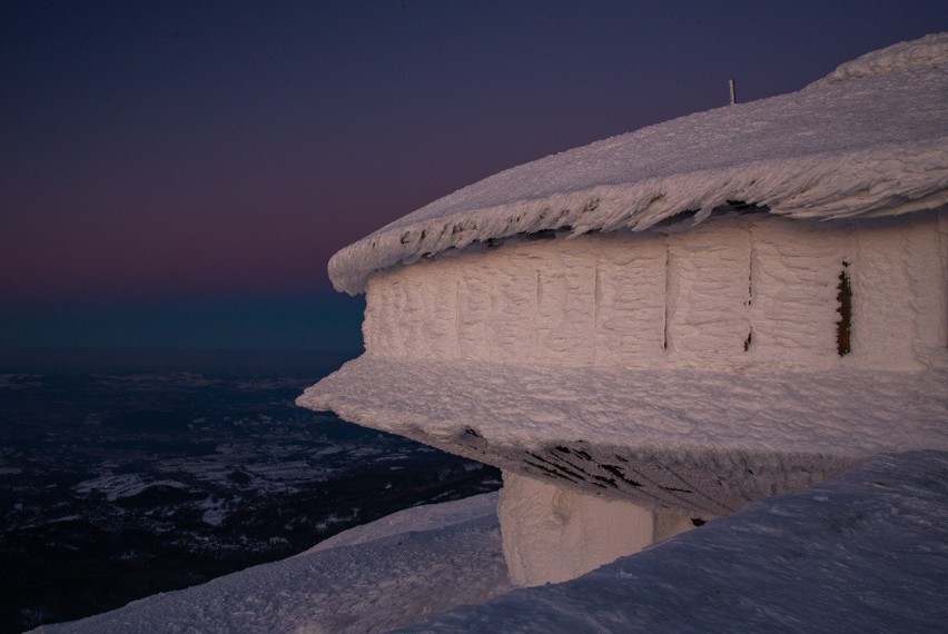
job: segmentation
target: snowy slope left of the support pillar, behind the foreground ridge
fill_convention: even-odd
[[[38,631],[388,631],[510,590],[496,503],[493,493],[403,511],[282,562]]]

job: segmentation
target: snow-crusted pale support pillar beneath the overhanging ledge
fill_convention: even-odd
[[[655,541],[654,514],[645,508],[512,472],[504,472],[497,515],[511,581],[520,586],[575,578]],[[663,517],[661,536],[681,527]]]

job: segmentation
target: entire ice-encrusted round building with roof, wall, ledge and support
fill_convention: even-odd
[[[346,247],[299,403],[500,466],[516,583],[948,448],[948,33],[531,162]]]

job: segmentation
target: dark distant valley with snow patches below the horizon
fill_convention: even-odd
[[[318,377],[0,375],[0,631],[289,556],[500,474],[296,407]]]

